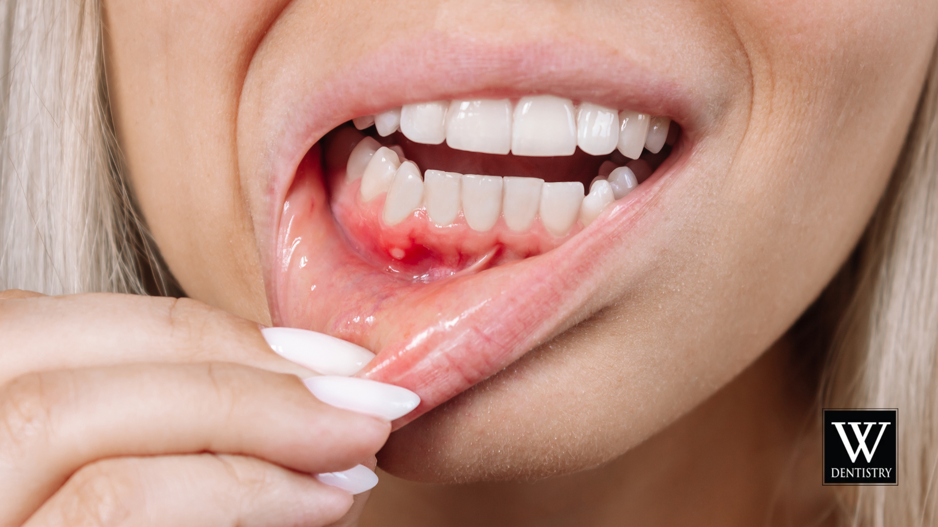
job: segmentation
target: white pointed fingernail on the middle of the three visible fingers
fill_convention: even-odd
[[[326,404],[387,421],[410,414],[420,404],[416,393],[407,388],[357,377],[310,377],[303,383]]]

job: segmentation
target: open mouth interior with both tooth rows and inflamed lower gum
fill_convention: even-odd
[[[551,95],[407,104],[351,125],[325,141],[337,222],[367,259],[423,280],[564,243],[678,133],[666,117]]]

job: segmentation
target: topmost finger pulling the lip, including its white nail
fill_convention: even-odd
[[[0,350],[0,384],[29,371],[140,362],[236,362],[309,377],[310,369],[335,372],[317,369],[317,361],[331,359],[325,361],[330,368],[337,360],[364,366],[363,354],[371,356],[325,337],[291,354],[304,368],[273,353],[254,322],[187,298],[132,294],[0,299]]]

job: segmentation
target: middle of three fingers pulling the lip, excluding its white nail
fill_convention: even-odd
[[[210,451],[331,473],[371,457],[389,432],[315,399],[295,376],[240,365],[30,374],[0,389],[0,510],[25,519],[96,459]]]

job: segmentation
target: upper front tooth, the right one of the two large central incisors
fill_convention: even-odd
[[[515,156],[572,156],[577,149],[573,102],[552,95],[522,97],[515,105],[511,153]]]

